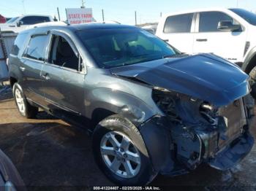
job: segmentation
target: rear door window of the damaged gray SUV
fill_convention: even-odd
[[[45,47],[48,42],[47,35],[31,36],[28,47],[23,56],[37,61],[45,61]]]

